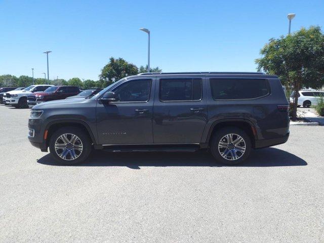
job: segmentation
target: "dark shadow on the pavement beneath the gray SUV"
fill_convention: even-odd
[[[38,163],[50,166],[59,166],[47,154],[37,160]],[[237,167],[277,167],[277,166],[306,166],[304,159],[277,148],[264,148],[251,151],[250,157]],[[89,159],[74,166],[125,166],[131,169],[140,169],[143,166],[197,166],[197,167],[224,167],[216,163],[212,155],[206,151],[198,152],[129,152],[112,153],[102,150],[95,151]]]

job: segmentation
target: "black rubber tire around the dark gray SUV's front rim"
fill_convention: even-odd
[[[55,142],[57,139],[64,134],[73,134],[76,135],[79,140],[82,142],[82,151],[77,155],[75,159],[72,159],[72,153],[67,152],[66,159],[63,159],[59,156],[58,153],[61,152],[61,150],[58,150],[58,152],[55,150]],[[58,140],[62,141],[62,140]],[[54,134],[50,138],[50,143],[49,143],[49,148],[52,156],[54,159],[61,165],[75,165],[84,162],[90,155],[92,151],[92,145],[91,145],[91,139],[89,138],[88,134],[83,131],[82,129],[79,128],[74,128],[74,127],[63,127],[58,129],[57,131],[54,132]],[[69,144],[71,146],[71,144]],[[68,149],[67,147],[65,149]],[[72,150],[72,148],[70,149]],[[62,149],[63,153],[63,149]],[[77,154],[74,152],[74,154]],[[68,156],[70,155],[70,156]]]

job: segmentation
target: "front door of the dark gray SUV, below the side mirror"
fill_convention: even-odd
[[[148,94],[142,92],[145,82],[150,80]],[[136,82],[137,90],[128,90],[126,85]],[[142,85],[141,85],[142,82]],[[124,87],[124,88],[123,88]],[[152,117],[154,102],[155,79],[137,78],[126,80],[112,90],[120,100],[103,104],[97,103],[97,132],[100,144],[151,144]],[[129,92],[130,91],[130,92]],[[143,101],[147,97],[148,101]],[[137,101],[141,100],[141,101]]]

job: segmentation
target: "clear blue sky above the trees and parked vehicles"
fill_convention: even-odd
[[[0,74],[98,79],[109,57],[163,71],[255,71],[271,37],[324,27],[324,1],[0,0]]]

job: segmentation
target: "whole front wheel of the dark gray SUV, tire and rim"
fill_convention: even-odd
[[[62,165],[85,161],[91,152],[91,140],[83,130],[73,127],[58,129],[50,139],[50,152]]]

